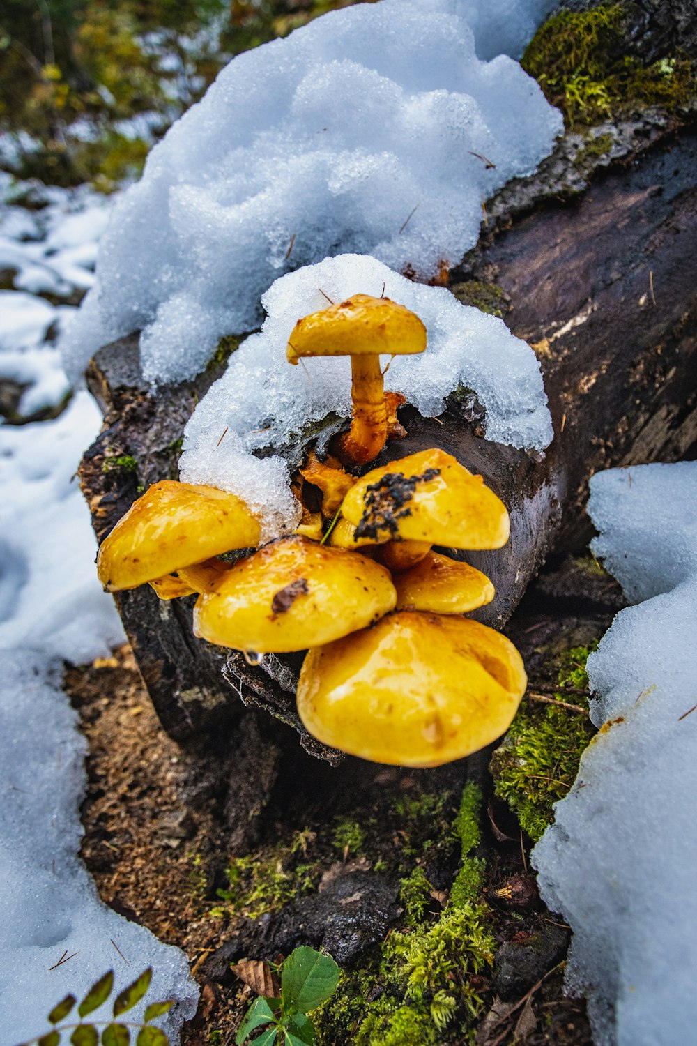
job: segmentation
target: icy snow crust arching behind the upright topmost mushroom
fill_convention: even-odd
[[[324,293],[322,293],[324,292]],[[489,439],[543,450],[552,439],[539,363],[503,320],[463,305],[445,288],[414,283],[375,258],[344,254],[277,279],[262,304],[268,317],[230,357],[225,374],[196,406],[184,434],[180,476],[243,498],[264,519],[266,537],[298,523],[289,470],[281,456],[255,457],[279,448],[308,424],[334,412],[351,413],[351,364],[346,357],[285,359],[299,317],[356,293],[406,305],[423,321],[426,350],[381,359],[390,363],[386,387],[402,392],[425,415],[442,412],[445,394],[463,385],[486,409]],[[327,297],[325,297],[325,295]],[[394,447],[399,457],[399,445]]]

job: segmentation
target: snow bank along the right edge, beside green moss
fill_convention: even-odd
[[[696,505],[695,461],[590,482],[591,548],[637,605],[588,659],[604,726],[533,863],[574,930],[596,1046],[684,1046],[697,1026]]]

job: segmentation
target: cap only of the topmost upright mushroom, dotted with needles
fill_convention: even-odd
[[[299,319],[285,356],[297,363],[301,356],[397,356],[425,347],[426,328],[410,309],[389,298],[354,294]]]

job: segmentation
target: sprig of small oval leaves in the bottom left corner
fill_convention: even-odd
[[[140,977],[123,988],[114,999],[113,1017],[121,1017],[122,1014],[133,1009],[147,992],[152,979],[153,971],[148,967],[147,970],[143,970]],[[137,1032],[136,1046],[169,1046],[169,1040],[162,1028],[155,1027],[150,1021],[162,1017],[163,1014],[171,1009],[175,1005],[172,999],[166,1002],[150,1002],[145,1007],[143,1020],[140,1022],[112,1020],[86,1023],[83,1020],[84,1017],[89,1017],[107,1002],[113,987],[114,971],[110,970],[92,985],[79,1005],[77,1005],[77,999],[74,995],[67,995],[65,999],[53,1006],[48,1015],[47,1020],[49,1024],[53,1025],[52,1029],[43,1036],[30,1039],[24,1046],[29,1046],[29,1043],[38,1043],[39,1046],[59,1046],[64,1034],[69,1034],[72,1046],[97,1046],[100,1038],[102,1046],[129,1046],[132,1029]],[[64,1023],[66,1018],[73,1013],[75,1005],[77,1005],[79,1021]],[[101,1036],[97,1028],[101,1028]]]

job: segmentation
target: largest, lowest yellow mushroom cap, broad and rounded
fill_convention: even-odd
[[[520,655],[501,633],[400,611],[310,650],[298,712],[315,737],[351,755],[437,767],[501,736],[526,686]]]

